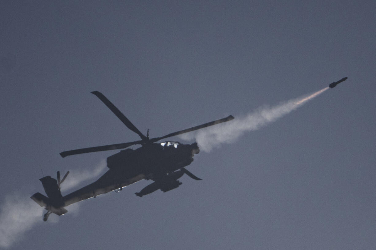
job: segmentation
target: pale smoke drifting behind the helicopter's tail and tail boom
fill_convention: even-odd
[[[67,190],[83,181],[97,177],[105,167],[106,161],[102,160],[94,170],[73,170],[63,182],[62,190]],[[56,178],[55,176],[52,177]],[[43,190],[42,185],[41,190]],[[72,206],[68,210],[71,215],[75,216],[78,213],[78,206]],[[41,223],[44,212],[45,210],[30,199],[30,196],[19,194],[7,196],[0,211],[0,248],[10,247],[13,243],[19,241],[26,231],[32,229],[38,222]],[[57,220],[49,218],[49,221],[56,222]]]

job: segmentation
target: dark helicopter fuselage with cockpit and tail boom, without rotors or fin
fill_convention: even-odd
[[[193,161],[200,151],[197,143],[151,143],[138,149],[125,149],[107,158],[109,170],[97,181],[63,197],[64,206],[122,189],[142,179],[158,178]]]

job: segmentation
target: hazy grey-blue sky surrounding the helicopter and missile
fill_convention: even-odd
[[[1,1],[0,248],[374,249],[375,9],[375,1]],[[179,188],[139,198],[143,180],[47,222],[29,198],[58,170],[71,172],[67,185],[91,178],[63,195],[95,181],[118,151],[59,152],[139,139],[91,91],[158,137],[229,114],[235,122],[346,76],[195,155],[187,169],[202,181],[183,176]]]

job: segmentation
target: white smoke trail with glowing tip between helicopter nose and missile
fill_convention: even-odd
[[[259,108],[257,111],[250,113],[245,117],[237,117],[230,122],[225,122],[213,127],[208,127],[206,129],[200,130],[195,136],[196,142],[198,143],[200,149],[206,152],[211,151],[212,148],[219,147],[222,143],[234,142],[243,133],[247,131],[258,130],[268,123],[274,122],[278,118],[305,104],[312,98],[320,95],[327,89],[329,89],[329,87],[321,89],[320,91],[317,91],[308,96],[303,96],[287,102],[282,102],[279,105],[271,108]],[[182,138],[188,139],[188,137],[186,136]]]

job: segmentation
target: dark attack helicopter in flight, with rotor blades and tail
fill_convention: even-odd
[[[67,178],[69,171],[62,179],[60,178],[59,171],[57,172],[57,179],[51,176],[45,176],[39,179],[42,182],[47,197],[41,193],[35,193],[30,198],[47,210],[43,217],[44,221],[47,221],[49,215],[52,213],[63,215],[68,212],[67,209],[65,209],[66,206],[110,191],[119,192],[123,190],[124,187],[142,179],[151,179],[153,182],[144,187],[141,191],[136,192],[135,194],[138,197],[150,194],[158,189],[163,192],[173,190],[182,184],[178,179],[184,174],[192,179],[201,180],[185,168],[193,162],[193,156],[200,152],[196,142],[192,144],[182,144],[180,142],[171,141],[159,143],[159,141],[234,119],[232,115],[229,115],[219,120],[176,131],[162,137],[149,138],[149,130],[146,136],[141,133],[101,92],[93,91],[91,93],[96,95],[127,128],[138,134],[141,140],[61,152],[60,155],[64,158],[69,155],[123,149],[107,157],[107,167],[109,170],[97,181],[73,191],[66,196],[62,196],[60,185],[65,178]],[[132,145],[141,145],[141,147],[136,149],[128,148]]]

